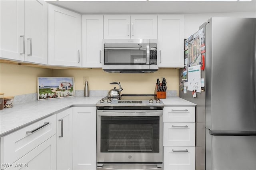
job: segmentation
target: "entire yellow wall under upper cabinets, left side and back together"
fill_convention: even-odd
[[[165,77],[168,90],[178,91],[178,69],[159,69],[155,73],[120,74],[106,73],[102,69],[46,69],[24,65],[0,63],[0,93],[5,96],[24,95],[37,92],[37,77],[74,77],[75,89],[83,90],[83,77],[89,77],[90,90],[118,88],[111,82],[120,82],[122,94],[153,94],[156,79]]]

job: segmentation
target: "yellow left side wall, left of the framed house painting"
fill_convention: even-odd
[[[37,92],[37,77],[51,76],[52,69],[0,63],[0,92],[16,96]]]

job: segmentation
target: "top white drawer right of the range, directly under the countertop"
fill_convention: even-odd
[[[164,122],[195,122],[195,107],[164,107]]]

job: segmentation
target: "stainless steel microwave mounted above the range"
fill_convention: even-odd
[[[158,70],[157,40],[103,40],[103,70],[114,73],[151,73]]]

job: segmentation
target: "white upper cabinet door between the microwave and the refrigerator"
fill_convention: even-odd
[[[184,67],[184,16],[158,16],[159,67]]]

